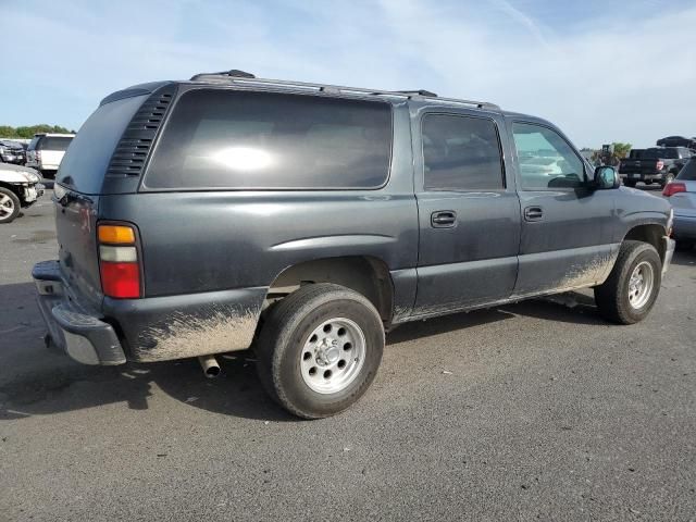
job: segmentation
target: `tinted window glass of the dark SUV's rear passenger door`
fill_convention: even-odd
[[[448,114],[423,119],[425,190],[500,190],[502,158],[493,120]]]

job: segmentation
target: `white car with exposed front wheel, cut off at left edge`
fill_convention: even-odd
[[[0,224],[14,221],[20,209],[30,207],[44,195],[40,181],[34,169],[0,164]]]

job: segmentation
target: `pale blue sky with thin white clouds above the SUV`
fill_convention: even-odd
[[[129,85],[258,77],[427,89],[577,147],[696,136],[696,0],[0,0],[0,125],[79,128]]]

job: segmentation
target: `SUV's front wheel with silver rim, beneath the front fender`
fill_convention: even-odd
[[[638,266],[641,269],[636,270]],[[637,295],[637,290],[632,291],[631,287],[632,276],[636,272],[643,281],[642,290]],[[652,309],[660,291],[661,276],[662,262],[652,245],[643,241],[623,241],[609,277],[595,287],[595,302],[599,313],[607,321],[618,324],[634,324],[643,321]],[[644,294],[643,288],[648,285],[649,288]]]

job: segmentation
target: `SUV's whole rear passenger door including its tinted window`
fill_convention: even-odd
[[[424,110],[413,121],[415,315],[504,300],[514,288],[520,204],[506,179],[504,124],[465,110]]]

